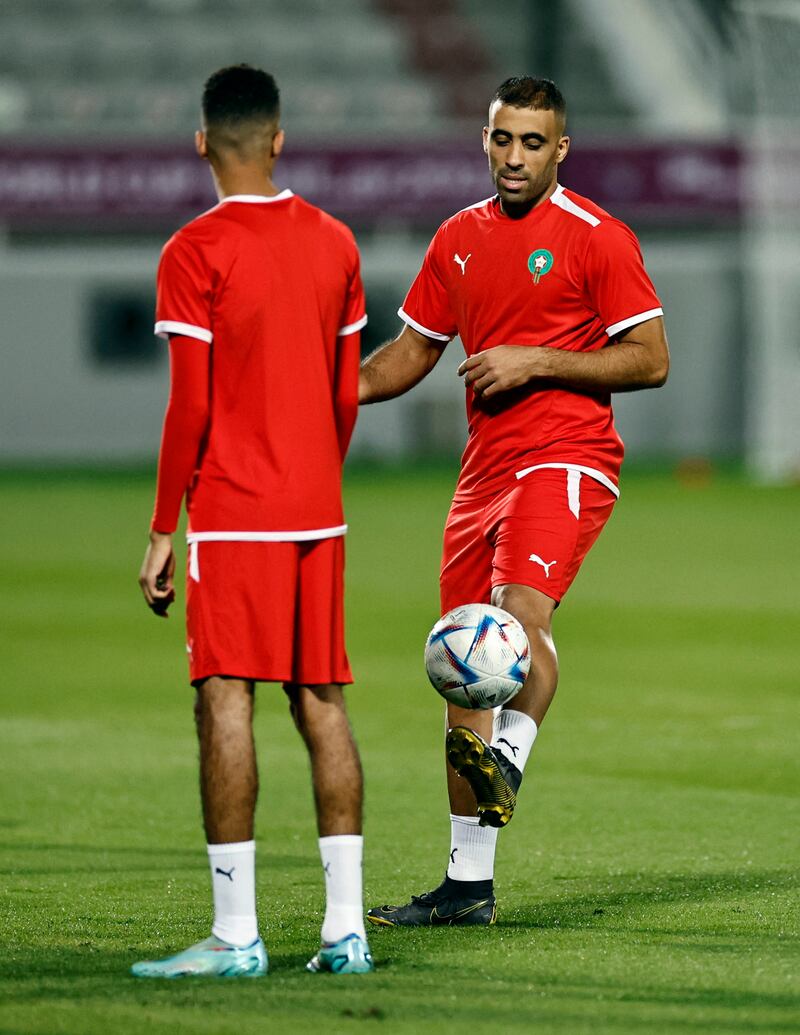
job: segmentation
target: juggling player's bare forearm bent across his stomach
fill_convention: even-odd
[[[659,388],[669,372],[670,349],[662,317],[623,331],[596,352],[501,345],[470,356],[458,367],[465,383],[481,397],[533,381],[547,381],[579,391]]]

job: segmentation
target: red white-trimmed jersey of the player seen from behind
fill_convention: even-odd
[[[227,198],[167,243],[156,333],[211,345],[191,532],[344,531],[365,323],[352,233],[291,190]]]

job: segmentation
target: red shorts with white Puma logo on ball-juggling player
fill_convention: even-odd
[[[439,580],[442,614],[488,602],[495,586],[532,586],[556,602],[611,516],[617,498],[579,471],[540,468],[497,496],[453,501]]]

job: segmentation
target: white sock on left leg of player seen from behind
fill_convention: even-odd
[[[251,945],[256,920],[256,841],[209,845],[214,924],[211,933],[230,945]]]

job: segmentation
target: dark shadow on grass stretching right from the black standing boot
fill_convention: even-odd
[[[566,890],[545,901],[521,907],[510,919],[501,917],[502,927],[577,928],[602,924],[611,915],[619,918],[643,907],[676,903],[704,903],[715,898],[755,892],[789,891],[800,885],[800,876],[782,869],[729,870],[712,874],[619,874],[597,880],[591,875],[555,880],[592,882],[596,890],[570,894]],[[680,934],[680,931],[676,931]]]

